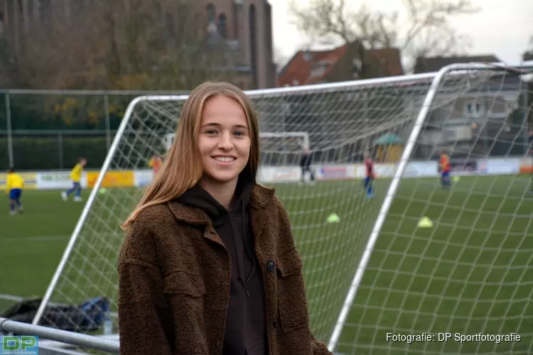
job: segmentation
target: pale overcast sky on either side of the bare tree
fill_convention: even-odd
[[[306,4],[306,0],[296,0]],[[354,1],[387,11],[400,9],[400,0]],[[470,54],[495,54],[508,64],[520,62],[533,35],[533,0],[471,0],[480,8],[475,15],[455,18],[452,23],[461,33],[470,37]],[[308,41],[291,25],[289,0],[269,0],[273,11],[274,48],[276,58],[289,59]]]

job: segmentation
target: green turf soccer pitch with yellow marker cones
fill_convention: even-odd
[[[526,196],[529,179],[461,178],[451,190],[441,189],[436,179],[402,180],[337,351],[527,354],[533,342],[533,197]],[[389,180],[377,180],[376,196],[368,201],[363,198],[360,181],[275,186],[289,207],[295,238],[302,246],[306,282],[313,280],[308,290],[313,325],[324,318],[325,311],[318,307],[319,302],[324,305],[324,297],[337,305],[335,309],[342,304],[345,292],[333,295],[328,285],[342,278],[340,288],[348,288],[388,185]],[[85,199],[88,193],[83,193]],[[353,205],[343,204],[350,194],[359,197],[352,199]],[[284,200],[284,196],[290,198]],[[26,212],[14,217],[9,217],[7,203],[0,209],[0,268],[4,271],[0,293],[42,297],[83,204],[63,202],[57,191],[25,191],[23,203]],[[290,206],[299,207],[291,210]],[[335,206],[342,208],[335,210]],[[333,212],[340,222],[325,223]],[[434,222],[432,228],[417,228],[424,216]],[[326,241],[322,235],[332,237]],[[360,249],[335,247],[347,238],[357,239]],[[313,241],[323,253],[316,253],[314,247],[313,255],[306,255]],[[330,272],[336,263],[345,266],[344,275]],[[325,286],[321,288],[321,284]],[[0,300],[0,309],[9,304],[11,301]],[[318,327],[318,337],[324,342],[331,325]],[[387,342],[388,332],[515,332],[521,339],[515,344],[463,344],[459,350],[457,342]]]

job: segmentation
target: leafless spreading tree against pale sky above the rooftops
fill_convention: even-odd
[[[298,6],[291,0],[296,27],[318,43],[355,43],[362,59],[357,74],[365,77],[365,52],[398,48],[409,65],[424,56],[451,55],[468,47],[450,18],[478,11],[470,0],[403,0],[404,11],[382,12],[364,4],[349,9],[346,0],[311,0]]]

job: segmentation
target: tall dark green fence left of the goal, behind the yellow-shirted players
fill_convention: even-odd
[[[0,170],[100,168],[129,102],[141,91],[0,91]]]

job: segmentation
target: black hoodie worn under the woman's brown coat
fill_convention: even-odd
[[[242,181],[243,180],[243,181]],[[200,185],[178,197],[178,202],[203,209],[230,253],[230,304],[227,310],[223,355],[266,355],[264,285],[254,251],[248,202],[254,182],[239,177],[230,210]]]

